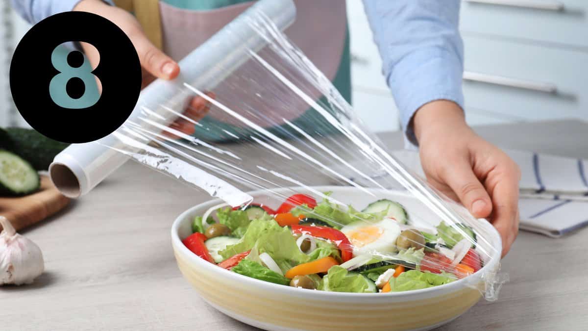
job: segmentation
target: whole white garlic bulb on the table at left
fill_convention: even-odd
[[[0,225],[0,285],[32,283],[45,269],[41,249],[16,233],[6,217],[0,216]]]

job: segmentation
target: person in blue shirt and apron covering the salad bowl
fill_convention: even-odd
[[[154,78],[177,77],[179,59],[252,4],[246,0],[12,2],[33,24],[71,10],[111,20],[128,35],[138,52],[145,74],[143,85]],[[345,1],[295,2],[297,19],[286,35],[350,101]],[[383,60],[383,74],[401,114],[406,141],[419,147],[427,180],[459,200],[474,216],[490,219],[502,237],[504,256],[519,229],[520,171],[502,150],[466,124],[463,45],[458,30],[460,0],[364,0],[363,4]],[[145,14],[148,7],[151,14]],[[159,11],[159,15],[152,15],[153,11]],[[96,50],[84,44],[82,47],[95,62]],[[200,104],[193,108],[202,111],[202,101],[196,102]],[[175,125],[189,133],[195,130],[191,123]]]

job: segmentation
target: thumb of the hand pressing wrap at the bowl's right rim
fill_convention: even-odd
[[[443,181],[459,197],[475,217],[487,217],[492,212],[492,200],[480,180],[466,161],[460,161],[449,168]]]

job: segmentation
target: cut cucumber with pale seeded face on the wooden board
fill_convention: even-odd
[[[39,174],[30,163],[9,151],[0,150],[0,194],[24,196],[41,186]]]

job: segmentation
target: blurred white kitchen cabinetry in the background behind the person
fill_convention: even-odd
[[[371,130],[399,130],[362,1],[346,1],[353,107]],[[26,127],[12,104],[8,68],[29,25],[9,0],[0,6],[0,126]],[[463,90],[470,125],[588,120],[587,15],[586,0],[463,0]]]

